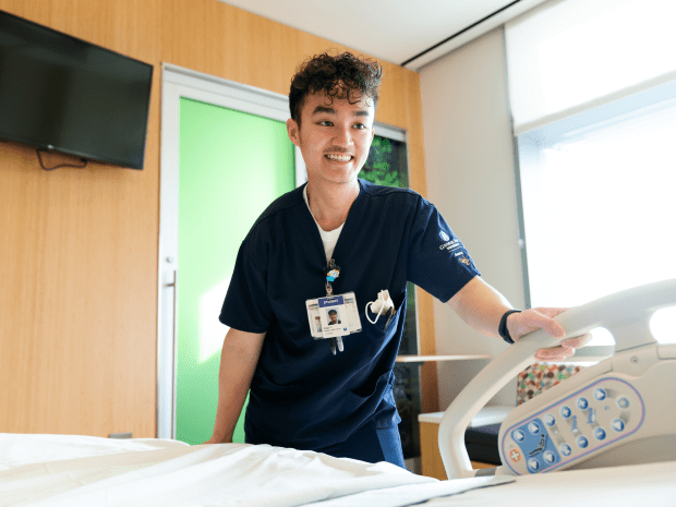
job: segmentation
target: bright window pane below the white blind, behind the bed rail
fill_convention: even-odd
[[[654,102],[663,95],[649,90],[518,136],[532,306],[676,278],[676,98]],[[657,339],[676,342],[676,311],[655,321]],[[592,345],[612,343],[594,334]]]

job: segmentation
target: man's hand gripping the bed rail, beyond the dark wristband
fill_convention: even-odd
[[[566,330],[554,321],[554,317],[567,309],[531,309],[520,313],[512,313],[507,317],[507,330],[512,340],[517,341],[524,335],[536,329],[544,329],[554,338],[562,338]],[[575,354],[575,349],[583,347],[591,340],[591,335],[566,338],[558,347],[539,349],[535,359],[539,361],[563,361]]]

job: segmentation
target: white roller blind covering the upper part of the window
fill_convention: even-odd
[[[548,1],[507,23],[515,132],[676,80],[676,1]]]

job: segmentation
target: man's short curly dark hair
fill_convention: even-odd
[[[298,68],[291,80],[291,118],[300,126],[305,97],[322,90],[331,101],[334,98],[347,99],[350,104],[358,102],[365,95],[373,100],[375,109],[382,77],[383,68],[376,60],[347,51],[335,57],[327,52],[315,55]]]

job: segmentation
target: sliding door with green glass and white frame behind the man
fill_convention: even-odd
[[[200,444],[212,434],[228,331],[218,315],[237,252],[267,205],[305,178],[288,116],[287,97],[162,68],[160,438]]]

